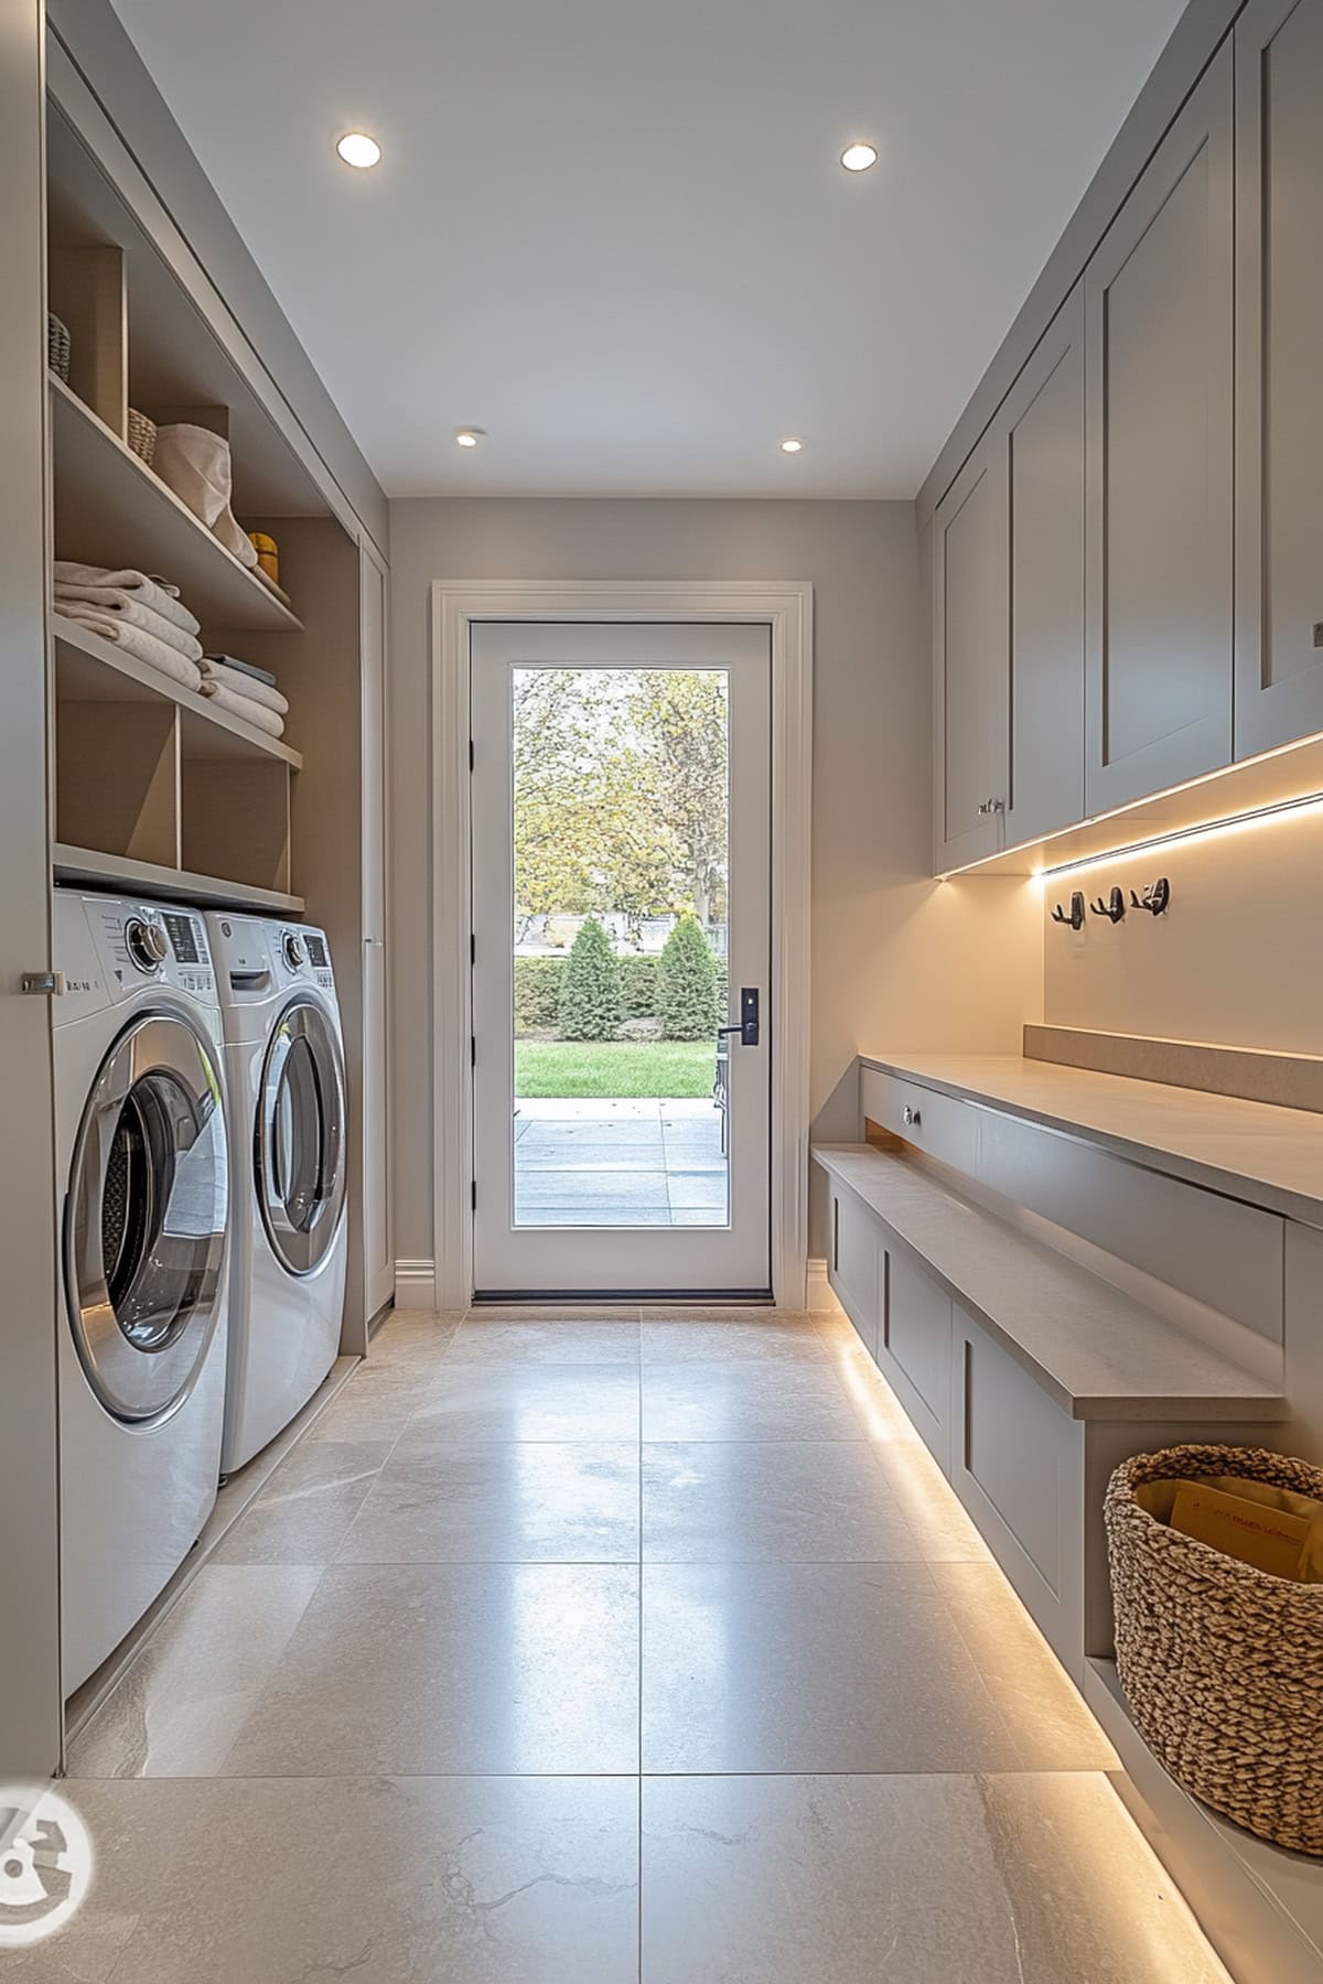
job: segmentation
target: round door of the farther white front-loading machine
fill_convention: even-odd
[[[254,1157],[276,1260],[313,1274],[345,1206],[345,1057],[315,1000],[292,1000],[268,1042]]]

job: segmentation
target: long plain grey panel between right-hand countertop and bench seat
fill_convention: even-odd
[[[1196,1302],[1281,1341],[1283,1220],[1125,1159],[984,1113],[980,1178]]]

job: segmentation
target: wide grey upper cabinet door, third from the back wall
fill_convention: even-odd
[[[1089,813],[1232,756],[1232,44],[1085,274]]]

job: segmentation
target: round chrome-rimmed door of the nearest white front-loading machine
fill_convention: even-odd
[[[101,1061],[69,1173],[65,1288],[101,1405],[161,1419],[188,1395],[220,1319],[228,1145],[210,1044],[147,1014]]]

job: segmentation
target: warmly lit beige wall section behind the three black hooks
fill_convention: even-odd
[[[1053,901],[1166,875],[1164,917],[1045,927],[1043,1018],[1105,1034],[1323,1054],[1323,809],[1260,819],[1045,883]]]

